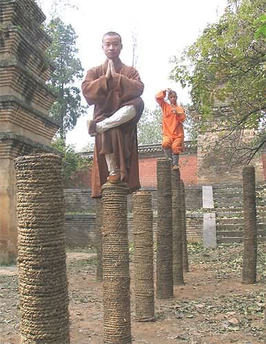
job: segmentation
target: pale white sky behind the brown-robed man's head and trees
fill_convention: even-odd
[[[187,89],[168,79],[171,70],[170,57],[194,43],[207,23],[213,23],[223,13],[227,0],[69,0],[76,8],[60,10],[61,19],[71,23],[79,36],[77,47],[85,71],[101,65],[105,56],[101,50],[101,38],[105,32],[116,31],[122,36],[121,61],[132,64],[132,30],[138,36],[139,56],[136,68],[145,85],[145,107],[154,109],[154,95],[171,87],[178,93],[178,100],[189,103]],[[53,0],[39,1],[49,19]],[[88,136],[88,114],[79,118],[76,127],[67,134],[67,143],[81,150],[92,138]]]

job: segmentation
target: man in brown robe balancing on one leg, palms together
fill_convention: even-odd
[[[90,136],[95,136],[92,197],[101,197],[106,181],[126,182],[131,192],[141,187],[136,123],[144,108],[144,86],[136,69],[119,58],[119,34],[105,34],[102,47],[107,60],[88,70],[81,87],[88,105],[94,105],[93,120],[88,122]]]

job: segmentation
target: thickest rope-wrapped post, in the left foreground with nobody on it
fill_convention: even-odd
[[[15,160],[21,343],[70,343],[61,157]]]

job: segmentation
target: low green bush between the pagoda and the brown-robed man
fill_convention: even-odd
[[[64,182],[68,182],[77,171],[83,171],[90,166],[90,162],[87,158],[83,158],[80,153],[76,153],[74,151],[74,146],[72,144],[65,144],[65,141],[61,138],[54,140],[51,145],[63,156]]]

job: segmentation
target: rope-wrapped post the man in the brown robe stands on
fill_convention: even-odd
[[[103,185],[104,343],[132,343],[125,184]]]

